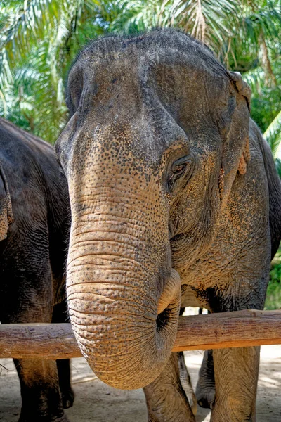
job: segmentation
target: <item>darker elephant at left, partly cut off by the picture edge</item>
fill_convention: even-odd
[[[53,147],[0,119],[0,321],[67,321],[65,262],[70,225],[67,181]],[[19,422],[67,422],[69,359],[14,359]]]

